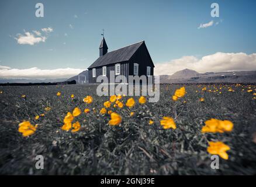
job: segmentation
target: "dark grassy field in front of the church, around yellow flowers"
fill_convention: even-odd
[[[185,97],[172,101],[181,86],[186,88]],[[99,97],[95,90],[95,85],[0,87],[0,174],[256,174],[255,85],[160,85],[159,102],[140,105],[133,97],[136,105],[127,108],[130,96],[124,96],[123,108],[111,106],[122,116],[120,126],[110,126],[110,115],[99,113],[109,97]],[[87,95],[94,98],[91,104],[82,101]],[[81,123],[79,131],[61,130],[65,115],[75,107],[91,112],[75,117]],[[45,116],[36,120],[41,114]],[[163,116],[174,117],[177,129],[163,129]],[[211,118],[230,120],[234,129],[202,134],[204,122]],[[38,124],[32,136],[19,133],[23,120]],[[154,123],[148,124],[150,120]],[[219,169],[210,167],[209,141],[230,147],[229,159],[220,158]],[[43,155],[44,169],[35,168],[36,155]]]

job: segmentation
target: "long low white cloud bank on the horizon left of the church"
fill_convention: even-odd
[[[84,70],[74,68],[58,68],[55,70],[41,70],[37,67],[28,69],[1,68],[0,78],[70,78]]]

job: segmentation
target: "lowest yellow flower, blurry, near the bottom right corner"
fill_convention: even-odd
[[[230,147],[222,143],[221,141],[217,141],[217,142],[210,141],[209,147],[207,147],[208,153],[213,155],[219,155],[225,160],[229,159],[229,155],[226,153],[226,151],[228,150],[230,150]]]

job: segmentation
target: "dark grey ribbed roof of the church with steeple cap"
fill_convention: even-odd
[[[104,41],[105,41],[105,39],[103,38],[101,46],[104,45]],[[105,41],[105,43],[106,43],[106,41]],[[110,51],[109,53],[106,53],[103,56],[100,56],[94,63],[92,63],[92,65],[90,65],[88,67],[88,69],[95,68],[95,67],[101,67],[103,65],[121,63],[123,61],[130,60],[130,58],[133,56],[133,54],[139,49],[139,47],[143,43],[144,43],[144,41],[140,41],[138,43],[131,44],[130,46],[122,47],[115,51]],[[101,46],[100,46],[100,48],[101,48]]]

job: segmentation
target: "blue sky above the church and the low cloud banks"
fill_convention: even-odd
[[[44,5],[44,18],[34,15],[38,2]],[[220,6],[219,18],[210,16],[213,2]],[[250,55],[256,52],[255,9],[256,1],[244,0],[4,0],[0,1],[0,65],[85,70],[99,56],[102,28],[109,51],[145,40],[155,64],[184,56],[200,60],[217,52]],[[210,21],[212,26],[198,29]],[[49,27],[53,32],[41,31]],[[46,40],[19,44],[15,37],[24,35],[24,30],[40,31]]]

